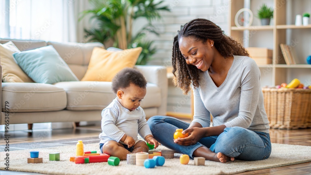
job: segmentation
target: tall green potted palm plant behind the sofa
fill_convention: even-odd
[[[169,11],[168,6],[162,6],[157,0],[89,0],[93,9],[83,11],[80,19],[91,15],[96,19],[96,26],[90,30],[84,29],[89,41],[112,43],[113,47],[127,49],[142,47],[142,53],[137,65],[144,65],[156,52],[152,47],[153,41],[146,40],[147,33],[159,35],[151,21],[160,19],[160,11]],[[147,24],[136,35],[132,34],[133,22],[144,18]],[[107,46],[107,45],[106,45]]]

